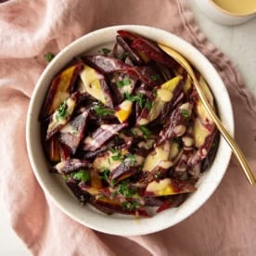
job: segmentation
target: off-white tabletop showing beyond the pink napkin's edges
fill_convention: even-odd
[[[212,22],[203,15],[194,0],[186,0],[186,2],[194,12],[202,32],[233,61],[244,81],[256,96],[256,19],[235,27],[223,26]],[[2,201],[0,201],[0,212],[0,255],[31,255],[10,228]]]

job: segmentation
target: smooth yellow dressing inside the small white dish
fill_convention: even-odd
[[[216,6],[234,14],[250,14],[256,12],[256,0],[212,0]]]

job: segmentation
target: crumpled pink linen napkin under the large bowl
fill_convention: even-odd
[[[87,32],[131,23],[173,32],[211,60],[231,96],[237,143],[255,170],[256,105],[230,61],[199,32],[184,0],[11,0],[0,5],[0,189],[10,224],[33,255],[256,255],[255,188],[236,160],[203,207],[148,236],[96,232],[45,198],[25,144],[26,112],[44,54]]]

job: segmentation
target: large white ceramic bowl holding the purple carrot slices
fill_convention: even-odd
[[[224,122],[224,126],[231,134],[234,134],[234,121],[230,99],[224,83],[209,60],[192,45],[189,45],[170,32],[134,25],[109,27],[96,32],[90,32],[77,39],[52,60],[42,73],[38,83],[36,83],[28,110],[26,135],[32,170],[39,184],[44,189],[45,194],[52,199],[61,211],[64,211],[75,221],[104,233],[134,236],[157,232],[173,226],[197,211],[211,197],[211,194],[220,184],[230,160],[231,150],[224,142],[223,137],[221,137],[216,158],[211,168],[203,173],[198,181],[198,190],[178,208],[162,211],[152,218],[141,218],[140,220],[134,220],[134,217],[120,214],[109,216],[96,211],[90,205],[82,206],[72,196],[69,188],[58,179],[57,175],[48,172],[49,165],[41,145],[40,122],[38,121],[48,85],[58,71],[72,58],[84,52],[90,52],[96,47],[102,48],[103,45],[109,45],[115,40],[116,32],[121,29],[137,32],[163,45],[170,45],[183,54],[201,72],[211,86],[220,117]]]

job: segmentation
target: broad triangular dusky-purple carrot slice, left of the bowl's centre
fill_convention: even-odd
[[[84,111],[59,131],[59,141],[70,147],[72,154],[75,154],[83,138],[88,115],[89,110]]]

